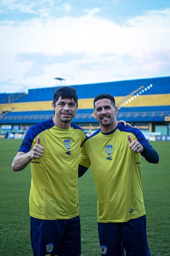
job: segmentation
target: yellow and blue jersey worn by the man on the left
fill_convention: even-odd
[[[60,129],[49,119],[27,131],[19,151],[29,152],[37,136],[44,149],[40,159],[30,162],[30,216],[50,220],[76,217],[79,214],[78,156],[86,134],[75,124]]]

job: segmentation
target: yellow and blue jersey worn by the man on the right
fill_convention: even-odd
[[[144,147],[143,155],[152,162],[158,154],[143,133],[134,127],[118,123],[117,128],[104,134],[98,129],[83,143],[80,165],[92,167],[98,195],[98,222],[126,222],[145,215],[141,180],[141,155],[129,147],[127,134]],[[150,159],[151,158],[151,159]]]

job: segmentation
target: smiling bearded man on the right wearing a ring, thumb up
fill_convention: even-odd
[[[112,95],[96,96],[94,113],[100,128],[82,145],[79,177],[91,165],[101,255],[119,256],[123,240],[127,256],[148,256],[141,155],[150,163],[159,156],[139,129],[117,122]]]

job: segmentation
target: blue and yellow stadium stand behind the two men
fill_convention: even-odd
[[[29,89],[28,94],[0,94],[1,134],[25,131],[29,126],[53,116],[52,101],[57,87]],[[78,94],[78,111],[73,122],[86,127],[87,132],[98,126],[93,115],[93,99],[100,93],[115,97],[119,111],[117,119],[124,119],[146,131],[169,134],[170,77],[127,80],[72,86]],[[6,129],[8,125],[10,129]],[[14,127],[15,129],[13,129]],[[5,129],[4,129],[5,128]],[[143,130],[142,129],[142,130]]]

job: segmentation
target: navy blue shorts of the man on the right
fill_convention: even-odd
[[[122,223],[98,222],[101,255],[120,256],[121,244],[127,256],[150,256],[146,235],[146,216]]]

